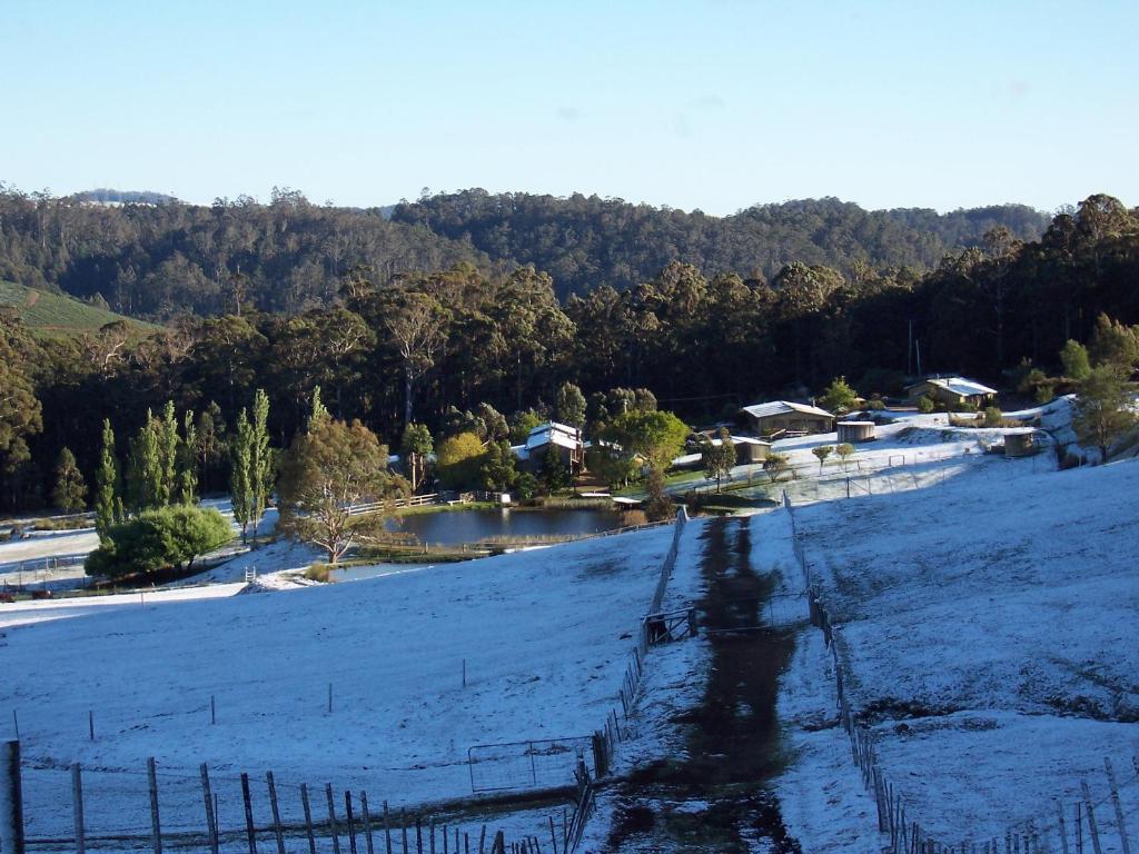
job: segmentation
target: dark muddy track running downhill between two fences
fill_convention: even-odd
[[[797,854],[767,785],[780,770],[776,698],[794,637],[764,625],[775,580],[751,565],[747,519],[710,520],[702,541],[696,607],[712,667],[699,707],[673,720],[687,755],[621,783],[606,849]]]

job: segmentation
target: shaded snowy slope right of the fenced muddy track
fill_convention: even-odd
[[[1139,462],[1044,473],[989,458],[904,495],[796,510],[852,705],[931,832],[1047,821],[1081,775],[1106,794],[1105,756],[1139,807],[1137,488]],[[826,752],[800,762],[792,779],[829,767]]]

